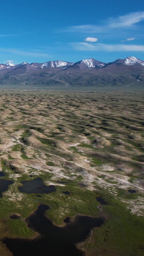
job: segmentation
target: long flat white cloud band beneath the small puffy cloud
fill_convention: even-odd
[[[73,49],[82,51],[144,51],[144,45],[70,43]]]

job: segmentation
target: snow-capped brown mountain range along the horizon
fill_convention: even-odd
[[[0,64],[0,85],[144,86],[144,61],[135,57],[105,63],[47,61]]]

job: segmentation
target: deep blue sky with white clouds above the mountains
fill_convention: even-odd
[[[7,0],[0,63],[144,60],[144,0]]]

